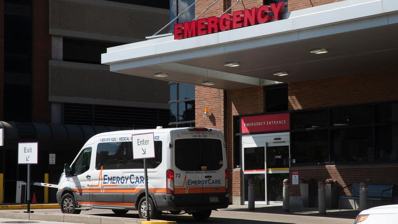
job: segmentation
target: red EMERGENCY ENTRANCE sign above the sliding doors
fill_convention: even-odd
[[[290,129],[289,113],[242,117],[242,133],[271,132]]]

